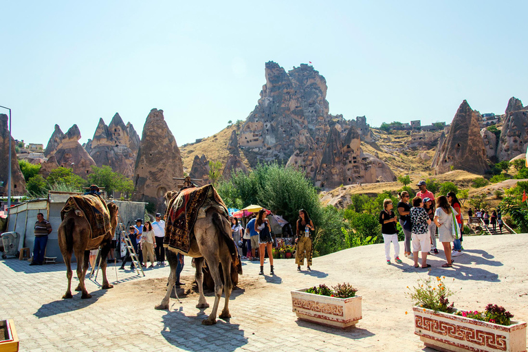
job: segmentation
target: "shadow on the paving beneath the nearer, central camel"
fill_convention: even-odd
[[[222,307],[223,305],[219,305],[219,313]],[[210,311],[211,307],[207,309]],[[177,311],[168,311],[163,316],[163,338],[185,351],[234,351],[248,344],[248,338],[244,337],[244,331],[238,324],[217,319],[216,325],[202,325],[201,321],[208,317],[204,312],[207,309],[200,309],[196,316],[186,316],[183,307],[179,307]]]

